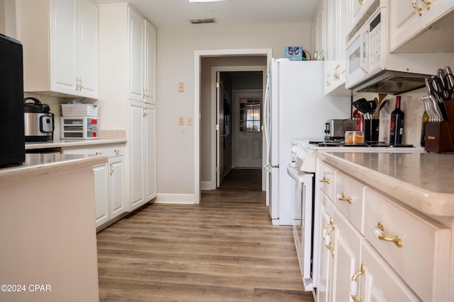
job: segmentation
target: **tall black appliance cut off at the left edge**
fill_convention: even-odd
[[[0,166],[26,160],[21,42],[0,34]]]

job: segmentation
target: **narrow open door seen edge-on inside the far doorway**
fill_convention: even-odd
[[[224,88],[221,73],[216,72],[216,105],[217,105],[217,154],[216,154],[216,187],[221,187],[224,179],[224,147],[226,134],[224,132]]]

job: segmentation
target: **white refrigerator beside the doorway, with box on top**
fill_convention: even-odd
[[[274,225],[291,226],[291,139],[324,138],[329,119],[351,117],[350,96],[323,93],[323,62],[272,59],[265,93],[267,205]]]

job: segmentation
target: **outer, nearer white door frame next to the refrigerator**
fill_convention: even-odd
[[[200,68],[201,68],[201,58],[202,57],[219,57],[219,56],[232,56],[232,55],[266,55],[267,56],[267,66],[269,66],[272,59],[272,49],[263,48],[263,49],[245,49],[245,50],[196,50],[194,52],[194,204],[200,203]],[[267,66],[266,72],[267,74]],[[246,66],[242,66],[243,68]],[[262,66],[261,66],[262,67]],[[238,69],[236,69],[238,71]],[[211,75],[213,71],[211,71]],[[216,82],[216,72],[215,80]],[[213,87],[213,86],[211,86]],[[216,85],[215,85],[216,87]],[[265,91],[265,86],[264,86]],[[216,93],[216,92],[215,92]],[[216,99],[216,95],[215,95]],[[213,118],[211,113],[211,118]],[[214,137],[216,141],[216,129],[214,131]],[[213,134],[211,133],[211,139],[213,139]],[[212,144],[211,144],[212,145]],[[266,147],[263,148],[266,152]],[[212,151],[211,151],[212,153]],[[216,147],[215,147],[215,156],[211,156],[211,164],[213,167],[216,167]],[[214,157],[214,165],[213,165]],[[266,155],[263,157],[266,158]],[[213,174],[214,174],[214,183],[216,184],[216,170],[211,169],[211,183],[213,183]]]

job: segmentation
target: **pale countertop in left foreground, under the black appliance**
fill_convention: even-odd
[[[38,178],[42,175],[62,173],[107,163],[106,156],[65,155],[60,153],[26,154],[26,162],[0,168],[0,185],[6,182]]]

